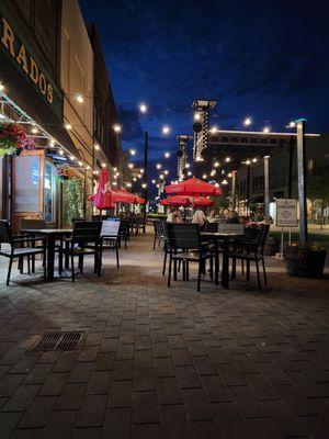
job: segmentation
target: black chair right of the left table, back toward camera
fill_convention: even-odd
[[[66,238],[68,244],[59,251],[59,273],[63,271],[63,256],[66,255],[71,261],[72,282],[76,281],[75,257],[79,257],[80,273],[83,272],[84,256],[94,255],[94,272],[101,275],[101,221],[77,221],[70,238]]]

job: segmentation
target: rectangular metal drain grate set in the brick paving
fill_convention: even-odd
[[[46,333],[35,345],[33,351],[77,350],[82,339],[82,333]]]

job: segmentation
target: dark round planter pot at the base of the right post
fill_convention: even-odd
[[[305,250],[288,247],[285,250],[286,270],[291,275],[300,278],[322,278],[326,250]]]

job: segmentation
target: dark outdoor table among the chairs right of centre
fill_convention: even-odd
[[[216,243],[215,251],[218,258],[218,247],[223,248],[223,267],[222,267],[222,285],[225,289],[229,288],[229,241],[237,240],[243,237],[241,233],[235,232],[201,232],[203,238],[208,238]],[[216,273],[216,277],[218,274]]]

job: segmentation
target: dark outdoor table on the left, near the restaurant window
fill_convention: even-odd
[[[45,236],[47,239],[47,281],[54,280],[55,273],[55,244],[56,239],[61,239],[71,235],[71,228],[25,228],[25,235]]]

